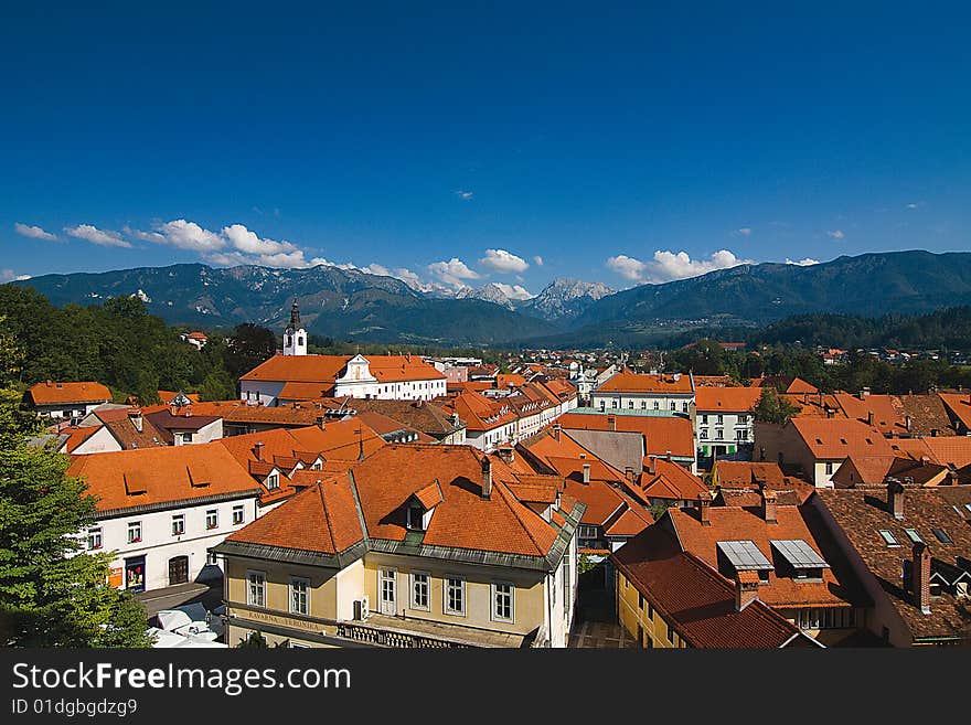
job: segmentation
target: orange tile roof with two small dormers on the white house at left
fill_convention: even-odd
[[[74,456],[67,473],[86,479],[100,512],[259,489],[217,443]]]

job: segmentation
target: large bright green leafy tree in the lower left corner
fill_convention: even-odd
[[[82,551],[95,500],[70,457],[26,445],[41,424],[9,387],[20,361],[0,329],[0,646],[148,647],[145,608],[107,585],[110,555]]]

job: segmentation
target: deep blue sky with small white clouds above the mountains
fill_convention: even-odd
[[[964,3],[20,4],[0,279],[327,260],[536,292],[971,247]]]

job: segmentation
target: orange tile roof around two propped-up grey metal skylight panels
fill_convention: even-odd
[[[694,511],[669,509],[670,521],[684,551],[691,552],[715,571],[719,569],[718,542],[750,541],[762,555],[775,561],[771,541],[802,540],[830,565],[821,582],[797,580],[769,573],[769,583],[760,586],[758,597],[773,607],[825,607],[864,604],[862,586],[832,535],[811,507],[777,505],[777,523],[768,523],[758,510],[739,507],[709,507],[711,525],[703,526]],[[723,572],[725,576],[734,573]]]

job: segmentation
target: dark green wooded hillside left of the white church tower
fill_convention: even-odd
[[[117,401],[157,403],[158,391],[199,392],[203,399],[236,397],[237,377],[276,350],[266,328],[239,326],[227,340],[210,335],[200,351],[135,297],[56,308],[29,287],[0,286],[0,317],[24,352],[21,387],[44,380],[97,381]]]

